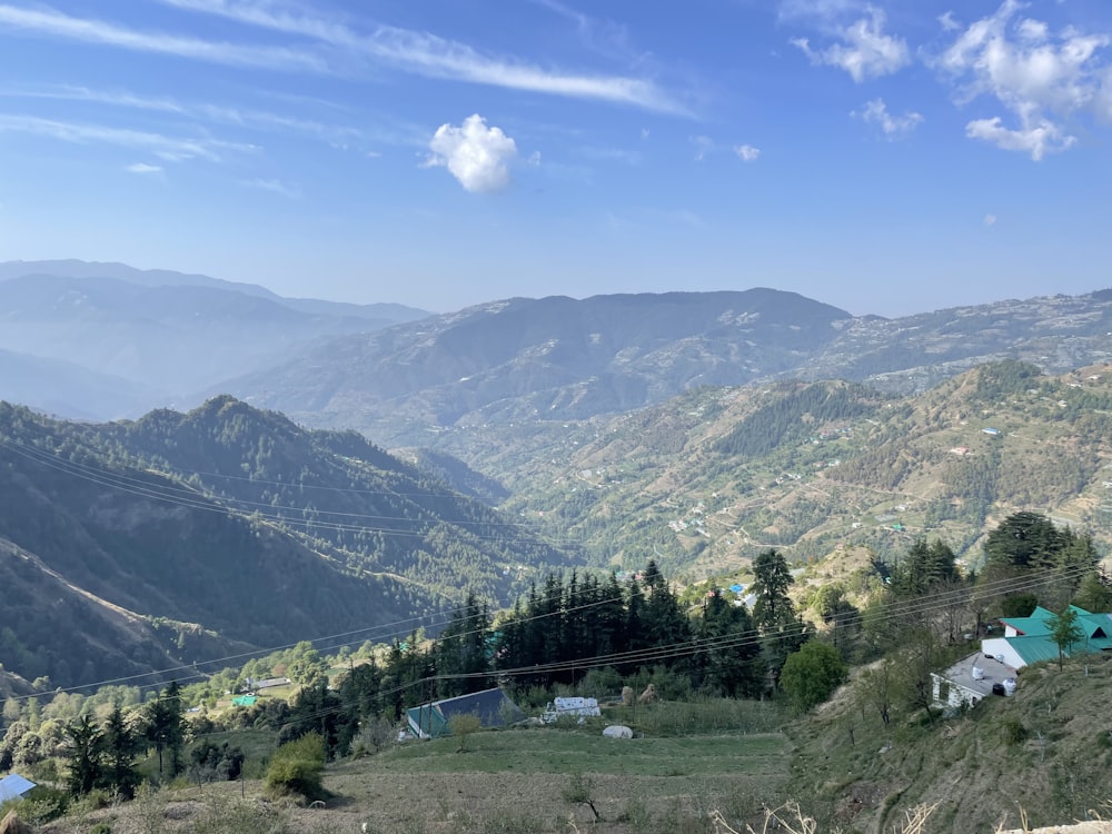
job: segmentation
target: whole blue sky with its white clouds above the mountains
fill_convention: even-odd
[[[0,260],[436,311],[1112,285],[1108,0],[0,0]]]

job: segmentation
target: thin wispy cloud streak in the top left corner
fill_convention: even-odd
[[[71,17],[50,9],[22,9],[0,4],[0,27],[211,63],[287,71],[328,70],[319,56],[304,50],[207,41],[161,32],[141,32],[101,20]]]

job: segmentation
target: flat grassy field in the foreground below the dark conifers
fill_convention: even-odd
[[[715,812],[759,831],[762,807],[777,804],[791,771],[787,737],[756,732],[776,723],[774,709],[661,704],[636,717],[627,722],[638,733],[632,739],[606,738],[607,722],[592,719],[480,732],[463,752],[450,737],[397,744],[330,764],[331,798],[320,808],[267,803],[262,783],[248,780],[163,790],[40,831],[88,834],[102,823],[111,834],[339,834],[366,824],[373,834],[709,834]]]

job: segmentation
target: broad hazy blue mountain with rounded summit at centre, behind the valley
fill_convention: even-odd
[[[582,419],[790,371],[851,319],[771,289],[514,298],[336,339],[229,389],[424,446],[465,418]]]

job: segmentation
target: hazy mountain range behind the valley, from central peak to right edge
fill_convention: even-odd
[[[1062,373],[1110,357],[1109,294],[885,319],[754,289],[515,298],[339,338],[224,387],[310,425],[460,454],[475,427],[619,414],[706,385],[844,378],[910,394],[984,361]]]

